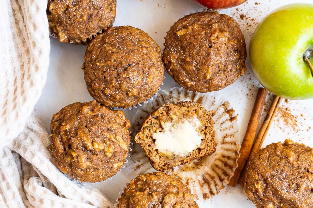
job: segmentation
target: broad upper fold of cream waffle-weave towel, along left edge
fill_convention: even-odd
[[[49,66],[47,0],[0,0],[0,149],[25,126]]]

